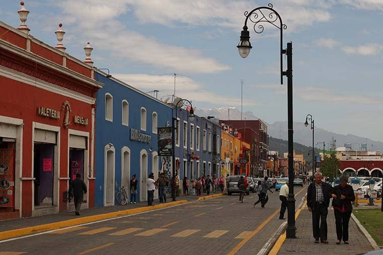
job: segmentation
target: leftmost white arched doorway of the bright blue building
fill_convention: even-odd
[[[115,148],[109,143],[104,147],[104,206],[114,205]]]

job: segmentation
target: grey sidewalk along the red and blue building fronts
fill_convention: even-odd
[[[217,193],[210,193],[210,195],[214,195],[214,194],[217,194]],[[171,201],[170,194],[167,194],[167,195],[168,195],[167,202],[170,202]],[[202,197],[203,196],[206,196],[206,193],[205,194],[203,193]],[[195,195],[189,195],[189,196],[176,197],[176,200],[177,201],[180,201],[180,200],[194,201],[194,200],[197,200],[198,198],[200,197]],[[158,200],[155,200],[153,204],[154,205],[159,204]],[[121,210],[128,210],[128,209],[133,209],[138,207],[144,207],[147,205],[148,205],[148,202],[143,201],[143,202],[137,202],[137,204],[115,205],[115,206],[108,206],[108,207],[84,209],[80,211],[81,213],[80,217],[98,215],[98,214],[109,213],[109,212],[116,212]],[[17,228],[37,226],[37,225],[58,222],[63,220],[70,220],[74,218],[79,218],[79,216],[75,216],[74,212],[65,211],[65,212],[47,214],[42,216],[2,220],[0,221],[0,232],[13,230]]]

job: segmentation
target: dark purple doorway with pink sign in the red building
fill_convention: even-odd
[[[54,144],[35,143],[35,205],[53,205]]]

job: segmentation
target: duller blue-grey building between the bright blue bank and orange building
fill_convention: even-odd
[[[220,174],[221,127],[218,121],[197,116],[190,120],[186,109],[177,107],[175,130],[176,172],[180,180],[185,176],[197,180],[204,175]],[[182,181],[180,181],[182,188]]]

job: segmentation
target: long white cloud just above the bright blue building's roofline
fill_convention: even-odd
[[[117,79],[130,84],[142,91],[148,92],[152,90],[161,91],[162,95],[173,95],[174,93],[174,76],[173,75],[148,75],[143,73],[137,74],[113,74]],[[218,106],[238,106],[239,98],[220,95],[215,92],[205,90],[205,85],[198,83],[187,76],[176,76],[176,96],[188,99],[192,102],[210,103]],[[165,98],[166,96],[164,96]],[[257,102],[244,101],[244,106],[256,106]],[[197,106],[197,105],[196,105]],[[198,107],[198,106],[197,106]]]

